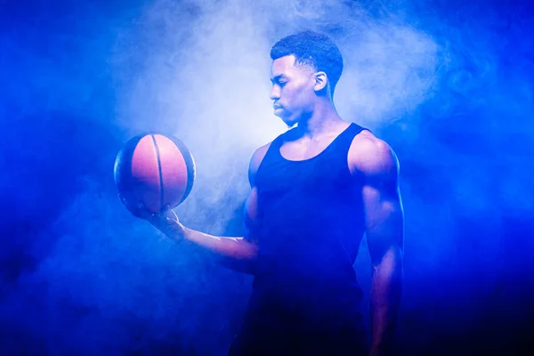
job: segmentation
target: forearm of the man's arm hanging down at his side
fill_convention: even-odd
[[[371,355],[389,354],[402,290],[402,253],[391,250],[374,266],[371,285]]]

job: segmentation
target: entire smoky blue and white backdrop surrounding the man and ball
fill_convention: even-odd
[[[198,162],[182,220],[239,236],[247,159],[280,130],[267,98],[269,45],[314,28],[346,54],[340,112],[401,160],[398,354],[520,354],[534,312],[530,4],[0,8],[0,353],[224,354],[250,278],[128,214],[113,160],[134,134],[177,134]],[[228,66],[232,51],[239,66]],[[365,241],[356,269],[367,294]]]

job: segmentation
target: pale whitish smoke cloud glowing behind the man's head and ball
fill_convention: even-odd
[[[190,148],[198,179],[179,208],[186,219],[222,205],[217,220],[230,219],[247,194],[252,153],[286,130],[269,100],[269,52],[281,36],[340,29],[331,34],[345,63],[336,106],[373,130],[417,109],[435,83],[431,37],[340,1],[157,0],[137,24],[139,45],[127,51],[142,53],[142,66],[120,97],[118,117],[128,134],[158,129]]]

